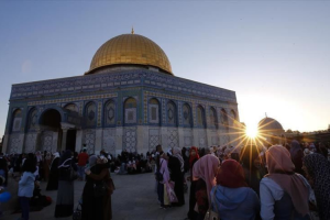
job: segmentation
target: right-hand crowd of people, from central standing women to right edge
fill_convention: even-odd
[[[295,140],[285,146],[193,146],[168,152],[158,145],[158,201],[164,209],[184,205],[184,186],[188,180],[186,219],[216,216],[221,220],[329,220],[329,144]],[[177,199],[172,198],[170,183]]]

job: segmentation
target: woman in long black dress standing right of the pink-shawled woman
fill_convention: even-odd
[[[174,193],[178,199],[178,202],[172,204],[173,206],[184,206],[185,205],[185,189],[184,189],[184,172],[185,163],[180,155],[180,150],[178,147],[172,148],[173,156],[168,158],[168,169],[170,180],[175,183]]]

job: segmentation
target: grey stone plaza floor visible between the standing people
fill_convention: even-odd
[[[166,210],[160,208],[155,193],[155,179],[152,173],[136,175],[111,174],[116,190],[112,195],[113,220],[183,220],[188,212],[188,194],[185,194],[186,205]],[[82,194],[85,182],[75,182],[75,206]],[[57,191],[45,191],[46,183],[41,183],[42,195],[52,197],[51,206],[41,211],[30,212],[30,220],[69,220],[68,218],[54,218]],[[16,220],[20,213],[11,215],[6,211],[3,220]]]

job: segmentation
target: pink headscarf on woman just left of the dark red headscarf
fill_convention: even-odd
[[[210,191],[212,187],[216,186],[215,177],[217,175],[219,165],[220,165],[219,158],[211,154],[200,157],[194,164],[193,177],[201,178],[205,180],[208,189],[207,193],[208,193],[209,200],[210,200]]]

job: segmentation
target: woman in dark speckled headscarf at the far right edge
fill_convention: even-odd
[[[309,154],[302,167],[312,182],[320,220],[330,219],[330,163],[321,154]]]

